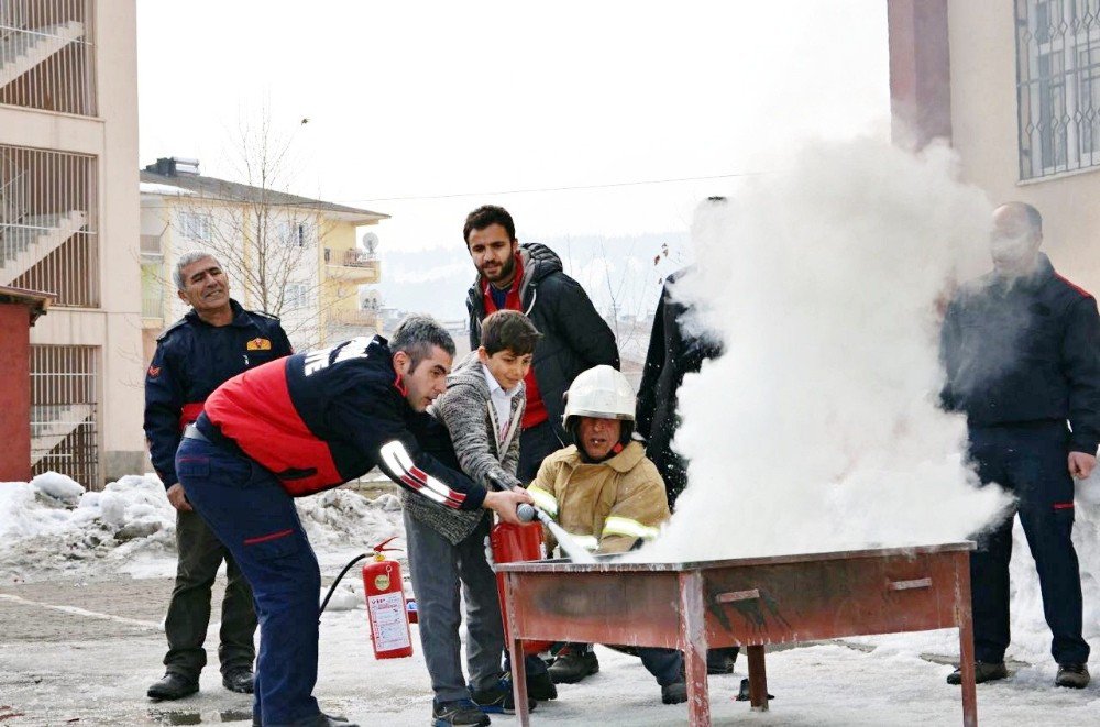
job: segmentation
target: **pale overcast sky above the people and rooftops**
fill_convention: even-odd
[[[520,240],[682,231],[744,178],[635,183],[888,133],[882,0],[140,0],[138,41],[142,164],[231,178],[266,107],[294,134],[292,190],[392,214],[384,250],[461,246],[485,202]],[[494,194],[600,185],[626,186]]]

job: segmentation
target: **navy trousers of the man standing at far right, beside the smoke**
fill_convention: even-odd
[[[996,482],[1016,496],[1015,509],[1038,571],[1050,652],[1058,663],[1085,663],[1081,577],[1074,529],[1074,481],[1065,422],[971,427],[970,456],[983,484]],[[1009,647],[1009,560],[1012,513],[978,535],[970,555],[975,657],[1000,662]]]

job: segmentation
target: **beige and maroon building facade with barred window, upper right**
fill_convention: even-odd
[[[890,0],[895,137],[941,136],[993,202],[1043,213],[1044,251],[1100,290],[1100,0]]]

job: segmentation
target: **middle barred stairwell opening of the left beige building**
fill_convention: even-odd
[[[0,145],[0,285],[99,306],[92,156]]]

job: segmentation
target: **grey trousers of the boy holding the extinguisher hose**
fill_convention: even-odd
[[[420,624],[420,646],[437,703],[470,698],[460,659],[460,585],[466,606],[470,684],[475,690],[485,690],[495,686],[501,679],[504,624],[496,594],[496,575],[485,559],[485,538],[492,521],[492,518],[483,517],[465,540],[453,546],[430,525],[405,513],[405,538]]]

